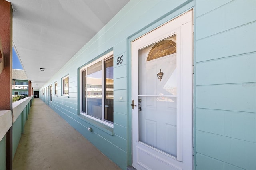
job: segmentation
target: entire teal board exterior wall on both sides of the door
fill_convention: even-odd
[[[130,1],[50,78],[40,98],[126,169],[132,154],[130,42],[194,8],[194,169],[256,169],[255,6],[238,0]],[[114,128],[80,115],[80,68],[111,50]],[[123,63],[116,65],[121,55]],[[66,75],[69,96],[62,96]],[[56,81],[58,95],[50,102],[43,90]]]

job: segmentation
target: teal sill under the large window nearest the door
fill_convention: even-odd
[[[112,127],[104,125],[104,124],[102,124],[102,123],[100,123],[98,121],[94,121],[93,119],[90,119],[90,118],[88,118],[88,117],[86,117],[84,115],[77,115],[77,117],[79,119],[81,119],[81,120],[91,124],[92,126],[94,126],[94,127],[98,128],[98,129],[100,129],[100,130],[110,134],[111,136],[114,136],[114,130],[113,130]]]

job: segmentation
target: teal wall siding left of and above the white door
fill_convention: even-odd
[[[130,43],[127,40],[145,28],[152,30],[189,10],[193,6],[190,4],[186,7],[189,2],[186,0],[130,1],[44,85],[47,87],[58,82],[58,96],[52,96],[52,103],[45,100],[46,94],[42,96],[40,89],[40,97],[44,102],[122,169],[131,165],[129,157],[131,126],[128,124],[131,120],[128,104],[131,100],[131,82],[128,76],[131,65],[130,52],[127,51]],[[179,10],[180,8],[183,9]],[[166,16],[168,17],[165,18]],[[79,115],[79,69],[111,50],[114,51],[114,128],[108,129]],[[117,58],[121,55],[123,62],[116,65]],[[70,77],[69,97],[61,95],[61,79],[66,75]],[[93,131],[88,132],[87,127],[92,127]]]

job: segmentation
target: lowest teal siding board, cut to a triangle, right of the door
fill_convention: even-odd
[[[244,170],[220,160],[196,154],[196,170]]]

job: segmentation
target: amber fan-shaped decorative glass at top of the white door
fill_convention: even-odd
[[[162,40],[156,43],[148,53],[147,61],[176,53],[177,45],[174,41],[176,41],[176,34],[168,40]]]

